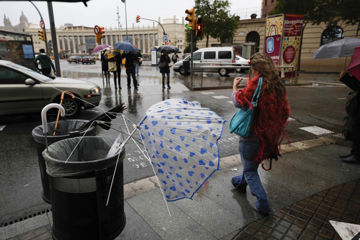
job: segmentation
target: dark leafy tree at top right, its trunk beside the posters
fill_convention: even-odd
[[[346,24],[359,24],[359,10],[359,0],[278,0],[274,10],[269,15],[279,13],[303,14],[303,32],[309,22],[312,22],[313,25],[325,22],[327,27],[337,26],[340,20],[345,21]],[[300,39],[297,69],[300,69],[302,36]]]

